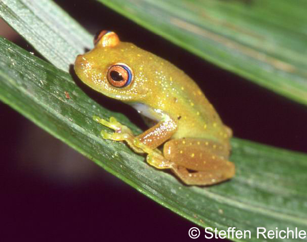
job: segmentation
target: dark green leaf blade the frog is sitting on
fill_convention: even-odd
[[[92,116],[115,116],[139,133],[127,118],[99,106],[68,73],[3,38],[0,99],[116,177],[199,226],[250,230],[252,239],[244,239],[249,241],[265,241],[256,239],[257,227],[307,229],[306,155],[234,138],[231,160],[236,164],[235,178],[211,187],[183,185],[174,175],[146,164],[144,157],[124,143],[100,138],[99,131],[104,127]]]

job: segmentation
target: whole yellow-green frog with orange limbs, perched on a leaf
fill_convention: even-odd
[[[115,133],[101,131],[104,139],[126,141],[158,169],[171,169],[188,185],[212,185],[232,178],[232,131],[220,120],[197,84],[170,62],[121,42],[103,31],[95,47],[75,61],[77,76],[106,96],[132,105],[154,124],[144,133],[132,131],[111,117],[94,119]],[[162,151],[157,147],[162,146]]]

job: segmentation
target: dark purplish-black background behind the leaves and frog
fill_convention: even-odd
[[[236,137],[307,152],[304,106],[220,70],[95,1],[56,2],[93,34],[113,30],[121,40],[177,65],[201,86]],[[35,53],[14,34],[8,37]],[[104,100],[110,109],[146,128],[126,105]],[[1,240],[191,241],[188,230],[193,223],[116,179],[9,106],[0,103],[0,111]]]

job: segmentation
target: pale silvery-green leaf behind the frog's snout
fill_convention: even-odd
[[[50,0],[1,0],[0,16],[64,71],[85,48],[92,48],[92,36]]]

